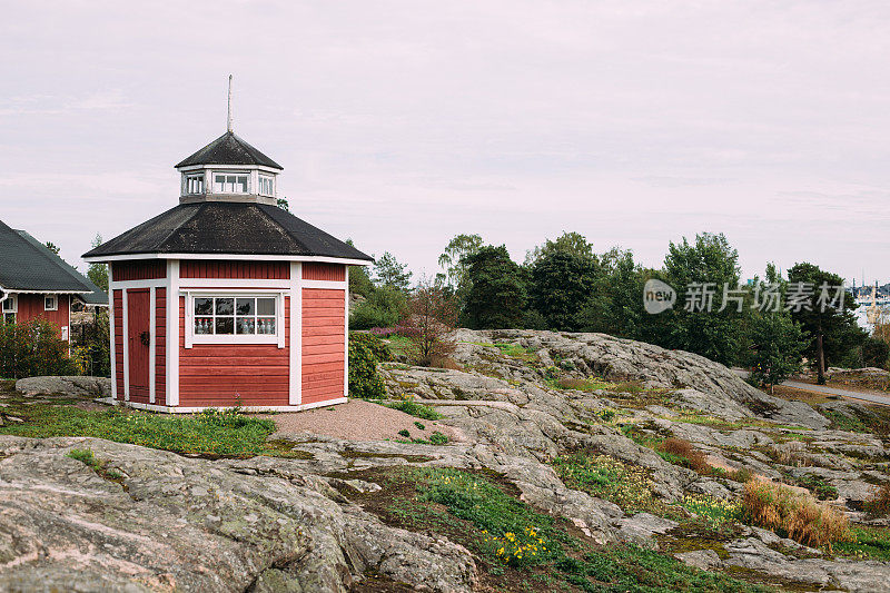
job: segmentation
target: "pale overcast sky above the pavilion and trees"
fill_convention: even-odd
[[[890,3],[8,3],[0,219],[83,269],[235,131],[300,218],[436,271],[451,237],[563,230],[660,266],[725,233],[746,276],[890,279]]]

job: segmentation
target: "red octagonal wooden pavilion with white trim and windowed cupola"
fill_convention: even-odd
[[[83,256],[109,265],[115,401],[345,402],[348,267],[372,258],[279,208],[281,166],[231,131],[176,168],[178,206]]]

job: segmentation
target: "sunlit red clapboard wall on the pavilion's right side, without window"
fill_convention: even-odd
[[[327,264],[313,264],[326,266]],[[339,266],[340,271],[343,266]],[[306,278],[306,264],[303,277]],[[345,276],[339,279],[343,280]],[[312,279],[334,279],[330,277]],[[303,289],[303,403],[343,397],[345,370],[345,290]]]

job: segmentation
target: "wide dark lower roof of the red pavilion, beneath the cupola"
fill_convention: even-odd
[[[256,202],[180,204],[88,251],[127,254],[244,254],[373,258],[277,206]]]

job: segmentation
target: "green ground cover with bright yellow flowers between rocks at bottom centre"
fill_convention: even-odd
[[[382,481],[389,516],[409,528],[446,532],[478,554],[482,576],[493,590],[767,591],[651,550],[599,548],[574,535],[567,521],[537,512],[476,473],[423,467],[392,471],[389,476]]]

